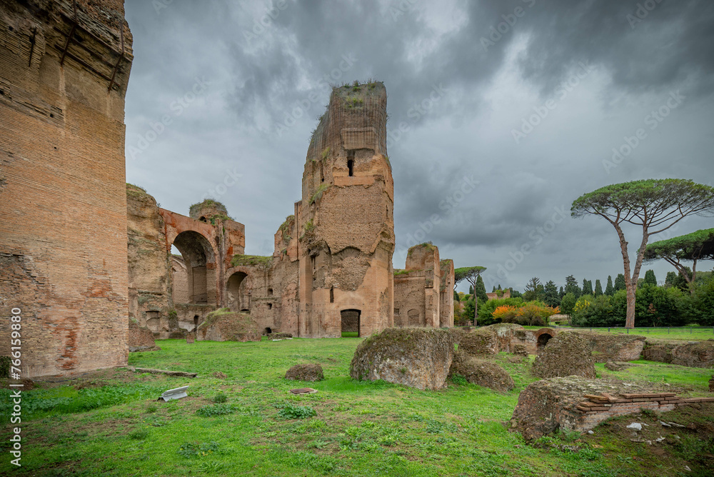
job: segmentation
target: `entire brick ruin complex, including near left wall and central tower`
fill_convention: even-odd
[[[126,185],[131,42],[122,0],[0,4],[0,310],[21,308],[25,376],[125,365],[143,339],[129,318],[159,338],[217,308],[311,338],[452,325],[435,246],[413,248],[395,287],[383,84],[333,90],[274,253],[246,256],[220,204],[184,216]]]

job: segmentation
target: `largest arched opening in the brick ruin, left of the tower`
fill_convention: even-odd
[[[209,286],[213,278],[213,271],[209,271],[206,267],[207,263],[213,262],[211,243],[198,232],[183,231],[176,236],[173,245],[181,253],[183,267],[185,267],[185,298],[187,301],[183,303],[208,303],[211,288],[214,288]],[[183,272],[181,269],[183,267],[178,261],[172,263],[172,269],[175,268],[178,272]],[[177,280],[177,290],[174,293],[174,297],[184,298],[183,290],[180,290],[183,285],[179,285],[179,283],[181,282]],[[210,296],[210,298],[213,298],[210,301],[214,301],[215,297]],[[178,301],[178,303],[182,302]]]

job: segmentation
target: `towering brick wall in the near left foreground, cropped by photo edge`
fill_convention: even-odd
[[[126,363],[122,0],[0,0],[0,354],[24,376]]]

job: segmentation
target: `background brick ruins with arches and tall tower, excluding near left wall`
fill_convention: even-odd
[[[272,256],[243,254],[245,228],[222,204],[206,200],[183,216],[127,185],[129,316],[160,338],[216,308],[249,313],[264,333],[307,338],[453,326],[453,261],[423,243],[410,248],[406,270],[393,270],[385,144],[383,84],[333,89],[308,147],[302,199],[278,227]]]

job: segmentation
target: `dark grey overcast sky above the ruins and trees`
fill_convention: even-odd
[[[570,274],[604,287],[623,271],[618,238],[571,219],[573,200],[635,179],[714,182],[711,1],[126,0],[126,19],[126,180],[181,214],[223,202],[246,253],[271,254],[300,199],[328,83],[386,86],[396,268],[432,241],[457,267],[488,267],[487,291]]]

